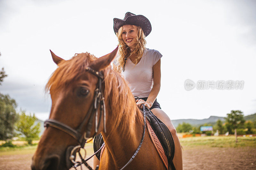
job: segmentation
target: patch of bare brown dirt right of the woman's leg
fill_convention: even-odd
[[[184,149],[184,169],[256,169],[256,148]]]

